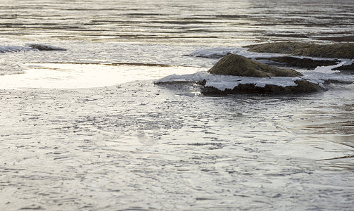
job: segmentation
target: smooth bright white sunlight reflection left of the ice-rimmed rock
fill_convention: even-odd
[[[172,74],[191,74],[205,68],[147,65],[53,64],[31,65],[37,68],[23,74],[3,75],[0,89],[50,88],[79,89],[107,87],[144,79],[159,79]]]

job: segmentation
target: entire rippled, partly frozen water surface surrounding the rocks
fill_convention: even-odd
[[[0,1],[0,46],[68,49],[0,53],[1,210],[353,210],[354,84],[153,84],[210,68],[201,49],[352,41],[353,20],[352,1]],[[123,78],[65,87],[87,72]]]

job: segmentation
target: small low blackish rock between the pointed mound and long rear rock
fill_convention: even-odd
[[[310,58],[296,58],[293,56],[280,56],[269,58],[256,58],[257,60],[272,60],[276,63],[282,63],[287,67],[315,69],[318,66],[336,65],[338,60],[315,60]]]

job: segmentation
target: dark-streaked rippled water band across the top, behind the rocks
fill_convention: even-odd
[[[351,0],[20,0],[0,8],[5,39],[235,45],[354,36]]]

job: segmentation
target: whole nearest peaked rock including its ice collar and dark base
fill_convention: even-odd
[[[203,94],[297,94],[324,89],[320,80],[306,78],[295,70],[229,54],[208,72],[169,75],[158,79],[156,84],[196,83]]]

